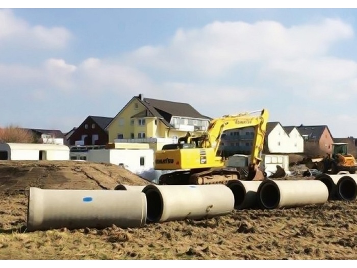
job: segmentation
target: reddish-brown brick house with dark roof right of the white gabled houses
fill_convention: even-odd
[[[334,138],[326,125],[296,127],[304,139],[304,153],[307,155],[321,155],[331,152]]]

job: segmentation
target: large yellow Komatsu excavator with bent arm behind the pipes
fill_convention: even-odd
[[[251,114],[260,112],[260,115]],[[224,115],[211,120],[206,132],[179,138],[178,143],[166,144],[155,154],[156,170],[177,170],[163,174],[159,184],[225,184],[231,180],[263,180],[264,174],[259,165],[262,161],[266,125],[269,113],[266,109]],[[219,145],[225,130],[254,127],[254,139],[246,175],[239,170],[224,166]]]

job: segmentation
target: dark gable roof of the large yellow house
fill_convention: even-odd
[[[138,96],[134,96],[125,106],[115,115],[116,118],[129,103],[133,100],[137,100],[140,104],[142,104],[147,111],[137,113],[132,116],[133,117],[140,117],[140,116],[152,116],[157,117],[159,120],[166,127],[172,127],[170,125],[171,117],[172,116],[182,116],[182,117],[191,117],[191,118],[201,118],[201,119],[208,119],[211,120],[212,118],[202,115],[196,109],[194,109],[188,103],[179,103],[179,102],[172,102],[172,101],[165,101],[165,100],[157,100],[157,99],[149,99],[143,98],[142,94]],[[108,123],[106,128],[112,123],[114,118]]]

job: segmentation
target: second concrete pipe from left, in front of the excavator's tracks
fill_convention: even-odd
[[[234,195],[224,184],[211,185],[147,185],[147,220],[201,220],[232,212]]]

